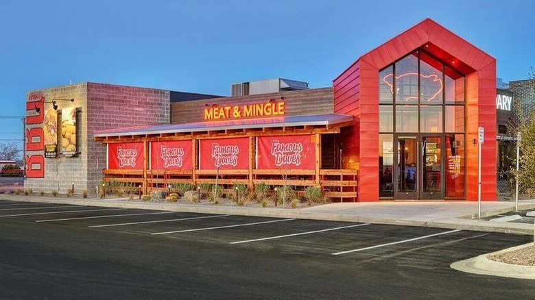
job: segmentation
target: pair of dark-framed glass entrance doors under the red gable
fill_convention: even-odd
[[[394,145],[394,199],[442,199],[442,137],[398,135]]]

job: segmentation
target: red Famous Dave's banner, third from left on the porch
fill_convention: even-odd
[[[199,140],[199,168],[249,168],[249,138]]]

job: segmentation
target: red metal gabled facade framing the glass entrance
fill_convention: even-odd
[[[359,201],[379,200],[379,70],[418,48],[466,75],[466,199],[477,200],[477,127],[482,145],[482,200],[496,195],[496,60],[427,18],[362,55],[333,81],[335,113],[353,114],[344,134],[344,168],[359,168]]]

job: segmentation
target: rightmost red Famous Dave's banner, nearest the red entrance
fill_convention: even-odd
[[[259,169],[301,169],[316,167],[315,136],[260,136],[257,148]]]

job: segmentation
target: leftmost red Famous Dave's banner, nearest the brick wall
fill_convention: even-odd
[[[143,142],[108,144],[108,168],[115,170],[143,170]]]

